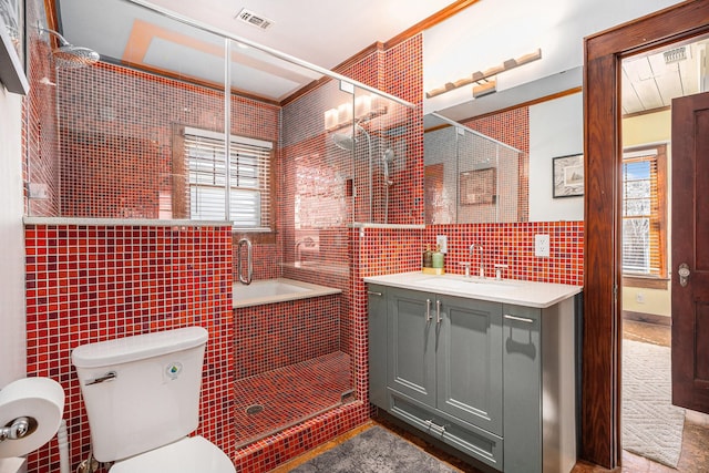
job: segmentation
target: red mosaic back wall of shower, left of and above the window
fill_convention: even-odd
[[[61,216],[160,218],[179,126],[220,131],[223,93],[114,64],[60,70]],[[86,93],[86,91],[91,93]],[[233,97],[232,133],[278,141],[279,107]]]

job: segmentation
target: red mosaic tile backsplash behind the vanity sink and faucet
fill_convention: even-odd
[[[549,257],[534,255],[534,236],[549,236]],[[483,246],[485,275],[494,277],[495,265],[506,265],[503,278],[579,286],[584,279],[584,223],[533,222],[517,224],[431,225],[425,229],[367,228],[360,243],[356,274],[359,277],[421,269],[422,251],[435,246],[435,236],[448,236],[445,273],[464,274],[460,263],[471,263],[477,274],[480,250],[470,258],[470,245]]]

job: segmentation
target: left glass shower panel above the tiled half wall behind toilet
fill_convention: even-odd
[[[224,39],[130,2],[88,8],[135,27],[95,47],[100,65],[56,69],[59,216],[223,220]]]

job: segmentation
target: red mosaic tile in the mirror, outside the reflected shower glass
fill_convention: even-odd
[[[518,164],[517,220],[527,222],[530,219],[530,107],[522,106],[461,123],[471,130],[524,152]]]

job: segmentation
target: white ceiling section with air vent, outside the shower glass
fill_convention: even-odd
[[[386,42],[453,0],[153,0],[199,22],[332,69]],[[199,8],[195,9],[195,4]],[[234,19],[246,8],[274,20],[266,31]]]

